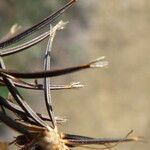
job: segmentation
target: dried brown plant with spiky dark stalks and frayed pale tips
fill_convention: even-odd
[[[88,68],[101,68],[107,65],[107,61],[104,60],[104,57],[100,57],[94,61],[79,66],[59,70],[50,70],[50,53],[56,31],[63,29],[66,24],[63,21],[60,21],[56,24],[56,26],[52,27],[51,22],[75,2],[76,0],[71,0],[64,7],[42,20],[40,23],[35,24],[29,29],[14,36],[13,34],[18,32],[17,28],[15,28],[15,32],[11,33],[10,38],[4,38],[0,43],[0,47],[2,49],[0,51],[0,86],[6,86],[10,95],[9,98],[0,96],[0,120],[13,130],[19,132],[20,135],[8,144],[16,144],[21,150],[68,150],[74,147],[110,149],[122,142],[140,140],[138,137],[129,137],[131,133],[124,138],[92,138],[58,132],[57,124],[63,123],[66,120],[55,116],[51,99],[51,90],[81,88],[83,85],[79,82],[73,82],[69,85],[52,85],[50,82],[50,77],[61,76]],[[6,48],[7,46],[17,43],[32,33],[39,31],[46,25],[49,25],[50,27],[47,32],[23,44]],[[42,71],[23,73],[6,69],[3,57],[26,50],[46,38],[49,39],[45,51],[44,69]],[[30,83],[23,80],[27,78],[33,79],[34,82]],[[43,84],[39,84],[36,80],[37,78],[42,78]],[[42,90],[44,92],[48,116],[35,112],[24,100],[17,87]],[[10,110],[14,116],[10,117],[5,111],[6,109]]]

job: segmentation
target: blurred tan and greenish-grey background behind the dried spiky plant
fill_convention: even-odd
[[[18,23],[23,29],[40,21],[66,0],[0,0],[0,36]],[[51,79],[55,84],[81,81],[81,90],[52,92],[55,114],[68,119],[60,131],[93,137],[133,136],[150,139],[150,1],[79,0],[59,20],[69,21],[57,33],[52,69],[106,56],[100,70]],[[57,21],[53,24],[56,24]],[[43,67],[46,40],[25,52],[5,58],[7,68],[34,71]],[[46,114],[43,93],[20,90],[34,110]],[[0,94],[7,90],[0,87]],[[0,126],[0,137],[14,133]],[[149,143],[120,144],[116,150],[149,150]],[[13,148],[15,149],[15,148]],[[81,148],[79,148],[81,149]]]

